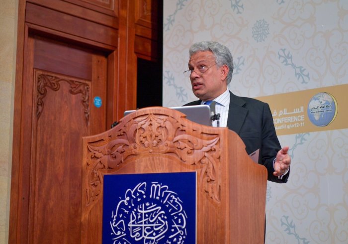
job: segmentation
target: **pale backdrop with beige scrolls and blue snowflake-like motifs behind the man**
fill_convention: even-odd
[[[196,100],[182,72],[201,40],[230,48],[236,95],[348,83],[348,0],[164,0],[165,107]],[[292,167],[287,184],[267,185],[267,244],[348,243],[348,129],[327,129],[278,136]]]

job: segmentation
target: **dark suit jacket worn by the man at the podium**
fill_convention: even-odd
[[[268,104],[252,98],[238,97],[231,92],[230,96],[227,127],[242,138],[248,154],[260,148],[259,163],[267,168],[268,180],[287,182],[290,172],[281,180],[273,175],[273,160],[281,146]],[[201,100],[198,100],[184,106],[200,103]]]

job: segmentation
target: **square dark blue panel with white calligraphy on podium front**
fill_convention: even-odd
[[[196,243],[196,172],[104,175],[102,242]]]

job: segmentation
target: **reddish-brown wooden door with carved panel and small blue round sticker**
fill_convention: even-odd
[[[27,236],[80,243],[82,136],[108,129],[107,57],[38,36],[29,36],[24,56]]]

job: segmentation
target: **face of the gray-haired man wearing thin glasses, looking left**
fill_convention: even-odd
[[[226,65],[218,68],[215,64],[214,54],[210,51],[194,53],[188,61],[188,69],[194,70],[190,75],[193,94],[201,100],[213,100],[227,89]],[[201,73],[200,70],[204,70]]]

